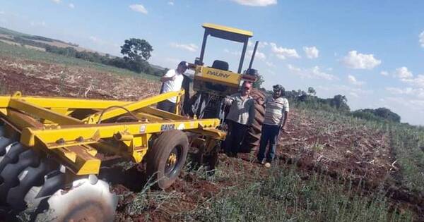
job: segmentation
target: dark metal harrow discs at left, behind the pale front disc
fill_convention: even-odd
[[[6,153],[4,148],[7,146],[6,144],[0,147],[4,151],[0,161],[1,209],[4,209],[8,218],[14,218],[13,215],[25,210],[27,204],[35,207],[40,213],[42,207],[37,206],[39,201],[35,199],[48,199],[47,197],[63,187],[64,173],[57,170],[57,163],[42,158],[33,149],[27,149],[19,142],[13,142]],[[27,202],[25,196],[32,187],[40,187],[40,190],[34,199],[27,199]],[[38,213],[32,216],[37,216]]]

